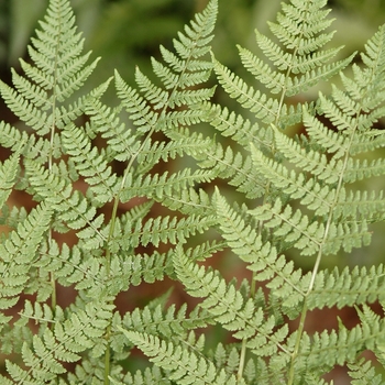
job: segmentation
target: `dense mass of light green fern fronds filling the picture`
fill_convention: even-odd
[[[69,1],[50,1],[23,74],[0,82],[20,119],[0,125],[10,152],[0,164],[2,384],[324,384],[337,365],[352,384],[383,382],[361,352],[385,364],[384,318],[370,306],[383,305],[384,266],[328,271],[321,260],[370,244],[385,217],[383,191],[363,184],[385,173],[374,129],[385,26],[360,64],[337,61],[326,3],[283,3],[271,36],[255,32],[257,53],[239,46],[253,85],[211,52],[210,0],[152,58],[157,81],[136,68],[130,86],[116,70],[85,92],[99,59],[82,53]],[[211,73],[240,109],[215,102]],[[338,74],[330,95],[299,98]],[[117,106],[102,98],[111,84]],[[11,204],[16,190],[32,208]],[[229,280],[215,254],[239,260],[249,278]],[[198,305],[166,292],[117,307],[165,278]],[[70,305],[57,298],[63,287],[76,293]],[[310,333],[308,314],[330,307],[354,307],[360,322]],[[211,330],[231,342],[208,346]]]

